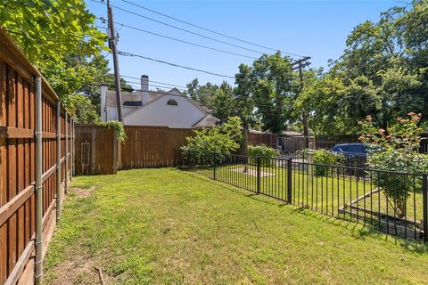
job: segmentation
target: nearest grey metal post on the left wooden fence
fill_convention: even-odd
[[[40,284],[43,276],[43,184],[42,184],[42,78],[36,77],[36,265],[35,282]]]

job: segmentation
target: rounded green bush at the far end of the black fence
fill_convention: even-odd
[[[186,139],[187,145],[181,148],[184,155],[191,153],[193,159],[201,159],[215,153],[218,159],[223,159],[241,146],[241,119],[230,117],[221,126],[195,130],[194,135]]]

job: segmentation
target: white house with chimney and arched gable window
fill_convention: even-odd
[[[141,77],[141,90],[121,93],[122,119],[126,126],[202,128],[215,126],[210,110],[173,88],[166,93],[149,91],[149,77]],[[101,86],[101,118],[117,120],[116,93]]]

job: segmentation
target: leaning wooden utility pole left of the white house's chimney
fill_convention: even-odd
[[[114,67],[114,86],[116,89],[116,104],[118,105],[118,120],[122,121],[122,101],[120,94],[120,74],[119,74],[119,61],[118,61],[118,37],[114,31],[114,20],[113,20],[113,12],[111,10],[110,1],[107,0],[107,16],[109,18],[109,45],[111,48],[111,53],[113,53],[113,67]]]

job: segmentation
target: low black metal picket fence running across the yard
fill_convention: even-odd
[[[428,242],[427,175],[321,165],[297,157],[193,156],[182,165],[210,178],[301,208]]]

